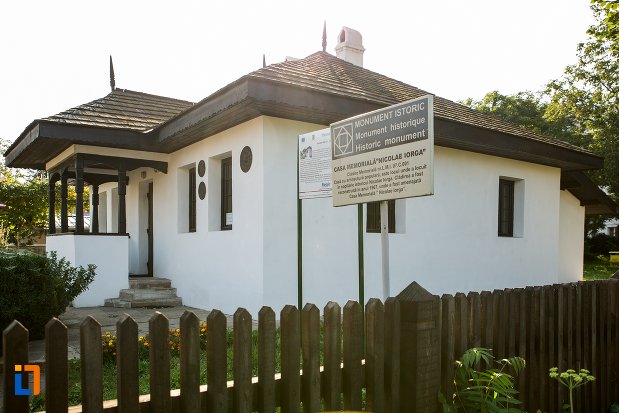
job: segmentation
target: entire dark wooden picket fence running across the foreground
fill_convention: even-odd
[[[550,367],[587,368],[597,380],[577,392],[577,411],[606,411],[619,401],[619,281],[581,282],[494,292],[400,296],[370,300],[343,311],[329,303],[280,314],[280,365],[275,374],[275,313],[258,317],[258,377],[252,377],[252,319],[234,314],[233,377],[227,381],[227,320],[207,318],[206,381],[201,385],[200,324],[180,320],[180,389],[170,391],[169,323],[149,322],[150,395],[138,394],[138,329],[129,316],[117,323],[117,400],[103,401],[101,326],[89,317],[80,327],[82,406],[67,406],[67,329],[46,326],[48,412],[439,412],[438,391],[453,391],[453,366],[465,349],[487,347],[497,358],[519,355],[527,367],[518,378],[524,410],[554,413],[565,391],[548,377]],[[364,324],[365,322],[365,324]],[[365,327],[365,328],[364,328]],[[320,364],[321,334],[323,366]],[[16,364],[28,363],[28,332],[12,323],[4,340],[4,412],[28,411],[14,396]],[[302,368],[302,370],[301,370]]]

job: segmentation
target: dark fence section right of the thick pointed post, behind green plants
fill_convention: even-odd
[[[561,411],[568,394],[548,376],[558,367],[596,377],[576,391],[574,411],[606,412],[619,402],[618,297],[618,280],[443,295],[442,391],[453,389],[454,358],[481,346],[526,360],[517,386],[523,410]]]

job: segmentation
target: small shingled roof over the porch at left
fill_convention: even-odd
[[[146,132],[190,108],[192,102],[115,89],[107,96],[43,118],[53,123]]]

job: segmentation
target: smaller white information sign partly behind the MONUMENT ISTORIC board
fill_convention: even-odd
[[[331,129],[299,135],[299,199],[331,196]]]

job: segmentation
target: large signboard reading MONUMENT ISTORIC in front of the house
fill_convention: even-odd
[[[434,193],[433,96],[331,125],[333,206]]]

